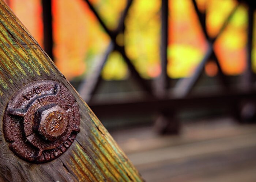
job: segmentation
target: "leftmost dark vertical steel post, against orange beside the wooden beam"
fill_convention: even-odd
[[[44,50],[48,56],[53,58],[53,35],[52,35],[52,0],[42,0],[43,22],[44,22]]]

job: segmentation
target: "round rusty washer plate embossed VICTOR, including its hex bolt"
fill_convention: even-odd
[[[43,163],[63,154],[79,129],[79,106],[58,82],[39,80],[22,87],[8,103],[4,137],[25,161]]]

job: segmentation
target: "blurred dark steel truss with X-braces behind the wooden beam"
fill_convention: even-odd
[[[189,78],[179,79],[175,84],[174,88],[170,90],[170,82],[172,80],[167,76],[167,44],[168,44],[168,16],[169,16],[169,3],[168,0],[162,0],[161,6],[161,68],[162,72],[159,78],[153,80],[154,84],[150,85],[148,81],[144,80],[135,69],[132,61],[128,58],[125,52],[125,46],[120,46],[117,44],[116,37],[120,33],[125,31],[125,17],[132,5],[132,0],[127,0],[127,5],[120,17],[117,28],[112,31],[110,30],[98,12],[95,10],[93,5],[89,0],[84,0],[89,5],[91,11],[94,13],[95,17],[109,35],[111,42],[105,52],[103,58],[94,66],[94,70],[91,70],[91,74],[87,76],[86,80],[80,85],[79,93],[82,98],[89,104],[92,110],[99,115],[110,114],[110,113],[152,113],[158,112],[159,118],[157,119],[156,126],[159,132],[171,132],[177,133],[179,130],[179,123],[175,119],[175,113],[178,110],[184,108],[194,108],[194,107],[218,107],[220,105],[225,105],[231,109],[231,112],[238,111],[237,106],[244,100],[256,100],[256,92],[254,89],[255,74],[252,71],[252,38],[253,38],[253,12],[255,10],[255,5],[253,1],[238,1],[237,6],[230,12],[229,16],[223,23],[219,33],[214,38],[210,37],[206,30],[206,12],[199,11],[197,7],[196,0],[192,0],[193,6],[195,8],[196,14],[198,16],[200,25],[204,32],[204,36],[208,43],[208,50],[204,55],[194,73]],[[45,33],[45,50],[52,58],[52,17],[49,15],[51,13],[50,1],[42,0],[43,12],[44,12],[44,33]],[[242,89],[234,89],[230,86],[228,77],[223,74],[222,68],[219,64],[219,60],[213,49],[215,40],[221,35],[223,30],[229,24],[232,16],[237,10],[237,7],[241,3],[248,4],[248,43],[247,43],[247,68],[245,74],[243,75],[243,80],[239,83]],[[49,31],[50,30],[50,31]],[[99,84],[102,81],[101,71],[108,59],[111,52],[118,51],[123,56],[125,62],[128,65],[132,79],[138,83],[140,88],[143,90],[144,96],[140,99],[128,98],[125,100],[113,99],[105,100],[102,102],[93,102],[91,99],[95,92],[97,91]],[[204,66],[208,60],[214,60],[218,67],[218,80],[222,86],[222,91],[212,94],[205,93],[200,95],[191,94],[192,89],[195,87],[198,80],[201,78]],[[239,112],[239,111],[238,111]]]

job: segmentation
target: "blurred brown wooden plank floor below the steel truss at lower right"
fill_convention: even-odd
[[[159,136],[153,127],[112,136],[149,182],[256,181],[256,124],[218,118],[183,124],[178,136]]]

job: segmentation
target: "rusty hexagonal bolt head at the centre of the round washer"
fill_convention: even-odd
[[[43,106],[35,114],[34,130],[48,141],[53,142],[63,136],[67,127],[68,117],[65,110],[56,104]]]

